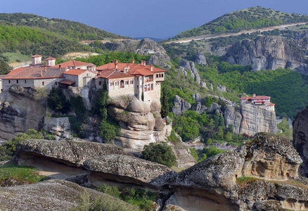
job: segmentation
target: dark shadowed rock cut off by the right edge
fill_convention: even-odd
[[[308,177],[308,107],[298,113],[293,122],[293,146],[303,161],[300,174]]]

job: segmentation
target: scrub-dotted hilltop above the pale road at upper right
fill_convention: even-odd
[[[198,37],[210,34],[227,34],[242,30],[260,29],[288,23],[308,22],[308,15],[283,13],[269,8],[255,6],[232,13],[227,13],[205,25],[186,30],[172,39]]]

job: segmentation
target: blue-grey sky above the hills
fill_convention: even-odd
[[[64,18],[129,37],[172,37],[252,6],[308,15],[307,0],[8,0],[0,13]]]

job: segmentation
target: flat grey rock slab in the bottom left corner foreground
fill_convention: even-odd
[[[89,195],[89,203],[94,197],[102,196],[113,203],[122,200],[99,191],[84,188],[70,181],[51,179],[37,184],[0,187],[0,210],[68,210],[76,208],[82,195]],[[124,203],[129,208],[132,205]]]

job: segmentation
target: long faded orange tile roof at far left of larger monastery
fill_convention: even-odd
[[[46,68],[46,69],[45,69]],[[65,68],[49,68],[49,67],[27,67],[18,68],[8,73],[4,79],[43,79],[43,78],[55,78],[63,77]]]

